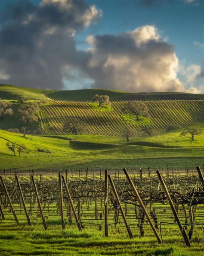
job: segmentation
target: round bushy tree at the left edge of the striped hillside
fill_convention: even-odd
[[[24,102],[18,109],[18,114],[20,119],[25,125],[29,125],[33,122],[38,122],[37,112],[39,111],[39,106],[35,102]]]

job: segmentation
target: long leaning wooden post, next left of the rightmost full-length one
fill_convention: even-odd
[[[129,176],[127,170],[126,170],[126,168],[124,168],[123,170],[124,170],[124,173],[125,173],[125,175],[126,175],[126,177],[127,177],[128,182],[130,183],[130,186],[131,186],[132,189],[133,189],[134,194],[136,195],[136,198],[137,198],[137,200],[138,200],[140,206],[142,207],[142,210],[143,210],[144,213],[145,213],[145,216],[146,216],[146,218],[147,218],[147,220],[148,220],[148,223],[149,223],[150,226],[151,226],[151,229],[152,229],[153,232],[155,233],[155,236],[156,236],[158,242],[159,242],[159,243],[162,243],[162,241],[161,241],[161,239],[160,239],[160,237],[159,237],[159,235],[158,235],[158,233],[157,233],[157,230],[156,230],[155,226],[154,226],[153,223],[151,222],[151,218],[149,217],[149,214],[148,214],[148,212],[147,212],[147,209],[146,209],[145,205],[143,204],[142,199],[141,199],[141,197],[140,197],[140,195],[139,195],[139,193],[138,193],[138,191],[137,191],[135,185],[133,184],[132,179],[130,178],[130,176]]]

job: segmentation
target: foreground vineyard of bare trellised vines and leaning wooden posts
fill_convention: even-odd
[[[153,243],[165,244],[174,234],[186,246],[203,241],[204,180],[199,167],[167,166],[157,172],[4,170],[1,175],[0,228],[7,232],[4,222],[9,218],[19,228],[21,222],[25,228],[27,221],[28,226],[41,225],[44,230],[60,224],[62,230],[91,229],[103,237],[151,237]],[[63,248],[66,239],[55,243]]]

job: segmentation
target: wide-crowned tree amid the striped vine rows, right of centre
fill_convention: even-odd
[[[133,115],[136,115],[136,121],[139,121],[139,115],[149,117],[149,112],[146,104],[143,102],[138,102],[136,100],[125,103],[122,111],[125,113],[131,113]]]

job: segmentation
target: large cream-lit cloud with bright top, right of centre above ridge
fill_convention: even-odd
[[[87,73],[93,87],[130,92],[184,91],[176,76],[173,46],[155,26],[142,26],[120,35],[89,36],[91,58]]]

